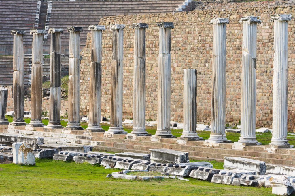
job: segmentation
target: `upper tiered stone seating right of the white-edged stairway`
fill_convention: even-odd
[[[148,0],[148,1],[53,1],[49,27],[63,27],[62,53],[68,54],[69,33],[67,26],[82,26],[81,49],[85,46],[87,27],[98,24],[104,16],[126,14],[150,14],[172,12],[183,4],[184,0]],[[45,51],[50,49],[50,35],[45,42]]]

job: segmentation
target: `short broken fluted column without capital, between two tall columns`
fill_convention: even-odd
[[[182,140],[202,140],[197,128],[197,70],[183,69],[183,131]]]

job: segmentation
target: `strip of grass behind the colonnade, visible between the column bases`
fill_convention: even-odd
[[[9,122],[12,122],[12,117],[11,116],[7,116],[6,118],[8,118]],[[30,118],[24,118],[26,123],[30,123]],[[48,124],[47,119],[43,119],[42,122],[47,125]],[[63,125],[64,127],[67,125],[67,122],[64,120],[61,120],[61,125]],[[87,128],[88,123],[81,123],[81,126],[86,129]],[[109,125],[102,125],[102,128],[104,130],[108,130],[109,129]],[[148,133],[155,135],[156,133],[156,127],[151,127],[147,129]],[[128,133],[130,133],[132,131],[132,127],[125,127],[124,128],[125,131],[127,131]],[[180,130],[171,130],[172,134],[175,135],[176,137],[180,137],[182,134],[182,129]],[[210,137],[210,131],[198,131],[198,135],[203,138],[204,140],[208,139]],[[240,133],[227,133],[227,139],[228,140],[232,140],[232,142],[237,142],[240,138]],[[292,136],[289,134],[289,136]],[[294,135],[293,135],[294,136]],[[262,145],[267,145],[271,142],[271,137],[272,134],[271,133],[263,133],[261,135],[256,135],[258,142],[261,142]],[[289,140],[290,145],[295,145],[295,138],[291,138],[288,137],[287,138]]]

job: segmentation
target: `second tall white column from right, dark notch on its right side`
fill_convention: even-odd
[[[243,24],[241,137],[235,145],[261,145],[256,140],[256,34],[261,20],[255,16],[240,19]]]

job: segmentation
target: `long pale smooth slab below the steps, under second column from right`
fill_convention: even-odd
[[[266,173],[266,163],[264,161],[242,157],[224,157],[223,167],[224,169],[255,171],[259,175],[264,175]]]

